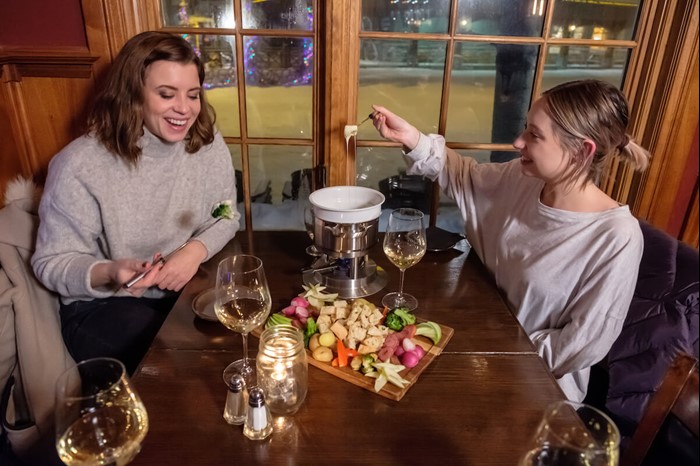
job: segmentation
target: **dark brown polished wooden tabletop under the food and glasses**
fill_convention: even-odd
[[[195,317],[192,299],[212,286],[221,257],[246,252],[263,260],[278,311],[301,291],[307,245],[303,232],[241,232],[185,288],[134,375],[151,425],[132,464],[516,464],[545,406],[564,395],[464,243],[406,272],[416,313],[454,336],[401,401],[310,367],[306,401],[275,419],[269,439],[250,441],[223,420],[222,370],[241,357],[240,336]],[[389,274],[368,298],[378,304],[398,270],[379,245],[370,257]]]

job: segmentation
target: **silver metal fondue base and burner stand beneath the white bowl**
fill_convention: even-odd
[[[384,270],[369,258],[377,242],[379,219],[361,223],[333,223],[314,219],[314,244],[323,252],[311,267],[304,269],[307,285],[324,285],[324,292],[338,293],[342,299],[370,296],[384,288]]]

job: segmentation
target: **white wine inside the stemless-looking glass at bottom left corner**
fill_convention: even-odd
[[[128,464],[141,450],[148,415],[141,403],[111,405],[87,412],[56,442],[58,456],[69,466]]]

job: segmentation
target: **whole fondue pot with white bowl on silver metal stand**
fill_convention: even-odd
[[[305,270],[304,283],[323,284],[344,299],[382,289],[386,273],[367,254],[377,243],[384,195],[361,186],[333,186],[314,191],[309,202],[314,244],[324,256]]]

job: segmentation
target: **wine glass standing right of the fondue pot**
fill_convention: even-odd
[[[389,225],[384,235],[384,254],[401,274],[399,291],[382,298],[382,304],[389,309],[418,307],[418,300],[403,292],[403,275],[407,268],[416,265],[425,255],[426,240],[423,226],[423,212],[418,209],[401,208],[391,212]]]

